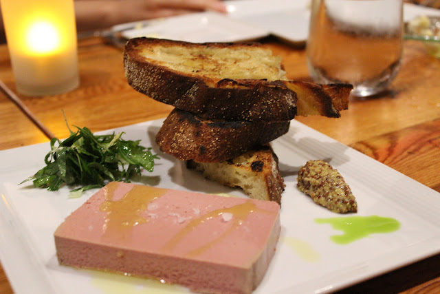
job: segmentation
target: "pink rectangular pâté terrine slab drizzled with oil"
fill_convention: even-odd
[[[110,182],[54,233],[60,264],[203,293],[250,293],[280,233],[276,202]]]

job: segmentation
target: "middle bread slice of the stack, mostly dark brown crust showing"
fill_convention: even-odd
[[[203,120],[175,108],[157,132],[156,143],[180,160],[220,162],[269,143],[287,133],[289,125],[289,120]]]

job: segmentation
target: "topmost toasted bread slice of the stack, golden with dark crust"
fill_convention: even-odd
[[[256,43],[188,43],[135,38],[126,43],[129,85],[175,107],[225,120],[291,120],[296,95],[281,59]]]

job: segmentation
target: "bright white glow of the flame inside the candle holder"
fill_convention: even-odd
[[[60,36],[52,23],[33,23],[28,31],[29,48],[37,53],[53,52],[60,46]]]

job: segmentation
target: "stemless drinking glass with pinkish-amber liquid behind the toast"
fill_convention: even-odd
[[[382,92],[401,64],[401,0],[312,0],[307,66],[318,83],[350,83],[354,96]]]

